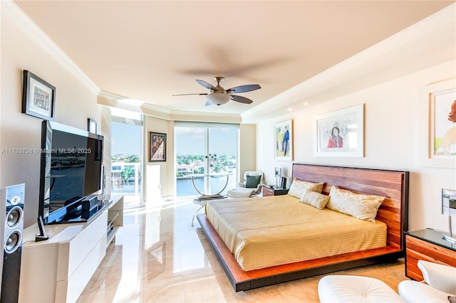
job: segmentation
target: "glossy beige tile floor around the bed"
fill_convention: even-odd
[[[198,208],[187,201],[126,209],[124,227],[78,302],[318,302],[323,276],[234,292],[199,223],[191,224]],[[375,277],[395,290],[408,280],[403,260],[336,274]]]

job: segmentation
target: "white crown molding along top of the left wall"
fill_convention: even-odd
[[[68,70],[68,72],[80,80],[81,83],[86,85],[90,91],[95,95],[98,95],[100,88],[83,73],[81,68],[79,68],[78,65],[76,65],[76,63],[74,63],[73,60],[71,60],[71,58],[69,58],[68,55],[66,55],[66,53],[64,53],[43,30],[41,30],[41,28],[39,28],[36,23],[34,23],[33,20],[14,3],[14,1],[1,0],[0,7],[2,18],[6,18],[11,24],[16,26],[16,28],[24,33],[24,35],[33,41],[33,43],[48,53],[51,58]]]

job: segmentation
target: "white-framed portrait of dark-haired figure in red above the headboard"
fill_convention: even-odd
[[[314,156],[364,156],[364,105],[314,119]]]

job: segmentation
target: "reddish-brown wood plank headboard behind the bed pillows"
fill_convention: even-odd
[[[408,171],[293,164],[293,178],[324,182],[326,195],[331,186],[338,186],[358,193],[385,196],[375,219],[388,225],[387,245],[404,249],[403,232],[408,230]]]

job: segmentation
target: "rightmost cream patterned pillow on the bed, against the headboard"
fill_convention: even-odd
[[[327,208],[372,223],[375,223],[378,208],[385,200],[385,197],[382,196],[353,193],[353,191],[346,191],[336,186],[331,187],[329,196]]]

